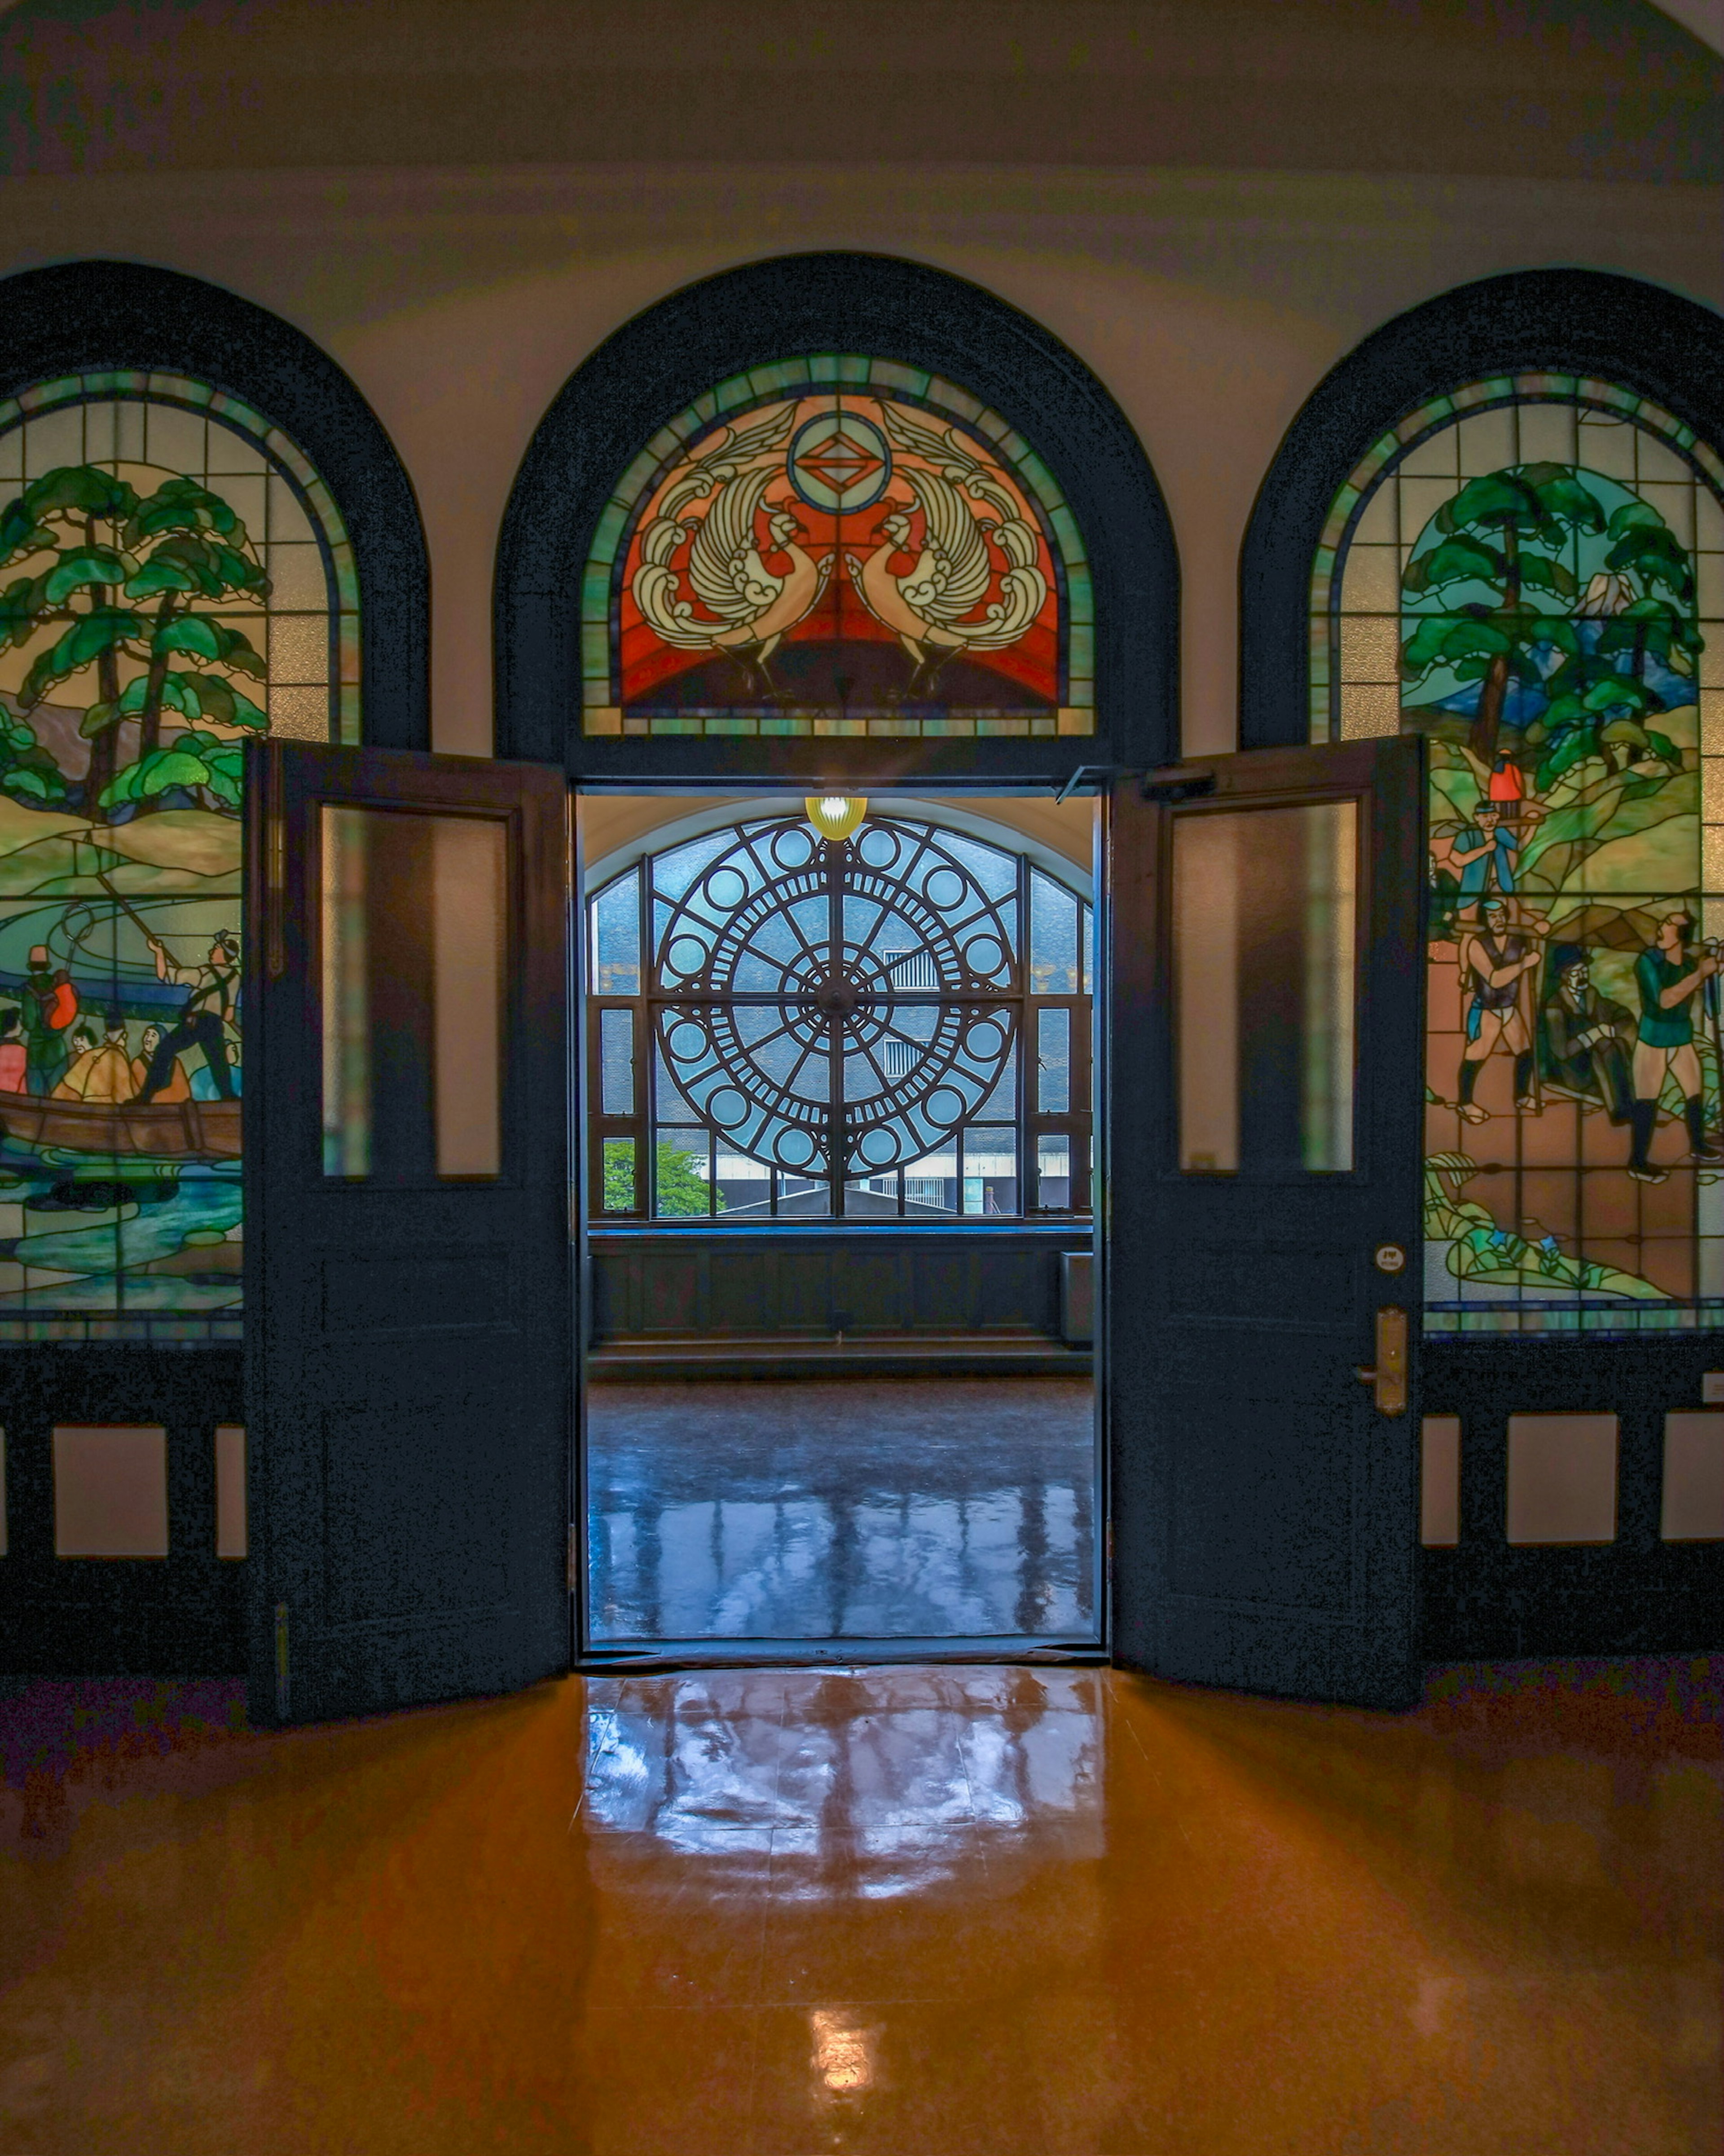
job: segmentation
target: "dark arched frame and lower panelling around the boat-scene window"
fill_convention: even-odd
[[[360,727],[427,750],[429,558],[407,472],[353,379],[280,315],[203,278],[67,261],[0,280],[0,397],[78,373],[159,371],[228,390],[278,425],[328,485],[353,545]],[[246,1421],[239,1345],[9,1343],[0,1352],[11,1554],[9,1667],[54,1675],[244,1667],[244,1563],[215,1557],[213,1434]],[[168,1557],[125,1567],[54,1557],[56,1423],[164,1425]]]

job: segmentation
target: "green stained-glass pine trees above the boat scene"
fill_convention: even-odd
[[[218,614],[269,584],[233,507],[194,479],[140,496],[101,466],[60,466],[0,509],[0,571],[11,567],[28,573],[0,589],[0,649],[28,649],[32,664],[17,711],[0,714],[0,789],[39,806],[67,798],[28,720],[93,668],[80,722],[91,821],[149,813],[172,791],[235,811],[239,742],[207,729],[263,733],[269,720],[235,677],[263,681],[267,668]],[[123,744],[136,748],[125,761]]]

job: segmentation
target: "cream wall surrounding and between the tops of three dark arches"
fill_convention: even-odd
[[[1575,235],[1584,235],[1577,248]],[[761,254],[853,246],[974,278],[1138,429],[1181,554],[1190,750],[1235,737],[1237,558],[1321,375],[1465,278],[1586,261],[1724,306],[1720,194],[1558,179],[1011,166],[129,172],[15,179],[0,270],[119,254],[211,278],[358,379],[431,543],[433,727],[491,744],[491,563],[550,399],[618,323]]]

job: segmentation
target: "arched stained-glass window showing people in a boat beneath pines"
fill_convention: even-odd
[[[183,375],[0,403],[0,1341],[239,1335],[241,748],[358,740],[295,444]]]

